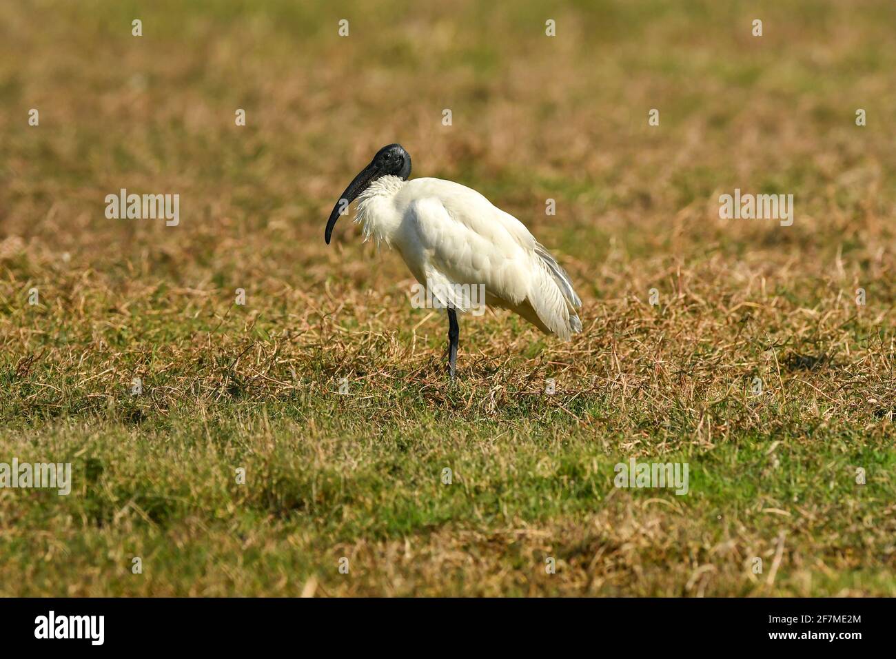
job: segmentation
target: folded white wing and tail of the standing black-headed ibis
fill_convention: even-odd
[[[417,181],[426,183],[413,191],[409,220],[428,284],[447,290],[435,297],[467,310],[464,285],[482,285],[489,298],[542,331],[568,338],[581,330],[575,307],[582,302],[569,277],[521,221],[469,187]]]

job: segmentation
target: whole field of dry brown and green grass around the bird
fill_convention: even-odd
[[[896,595],[894,24],[0,4],[0,462],[73,465],[67,497],[0,489],[0,594]],[[391,142],[551,248],[582,334],[463,317],[449,386],[400,256],[323,243]],[[180,223],[107,219],[120,188]],[[793,225],[720,220],[735,188]],[[615,488],[632,457],[688,493]]]

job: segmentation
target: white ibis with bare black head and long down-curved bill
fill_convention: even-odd
[[[476,190],[439,178],[410,176],[410,155],[401,144],[383,146],[349,183],[333,207],[323,238],[359,199],[356,222],[398,249],[417,281],[434,291],[448,311],[448,369],[452,379],[459,329],[455,309],[469,310],[456,294],[485,290],[487,305],[510,309],[545,334],[568,340],[582,331],[582,300],[569,275],[517,220]]]

